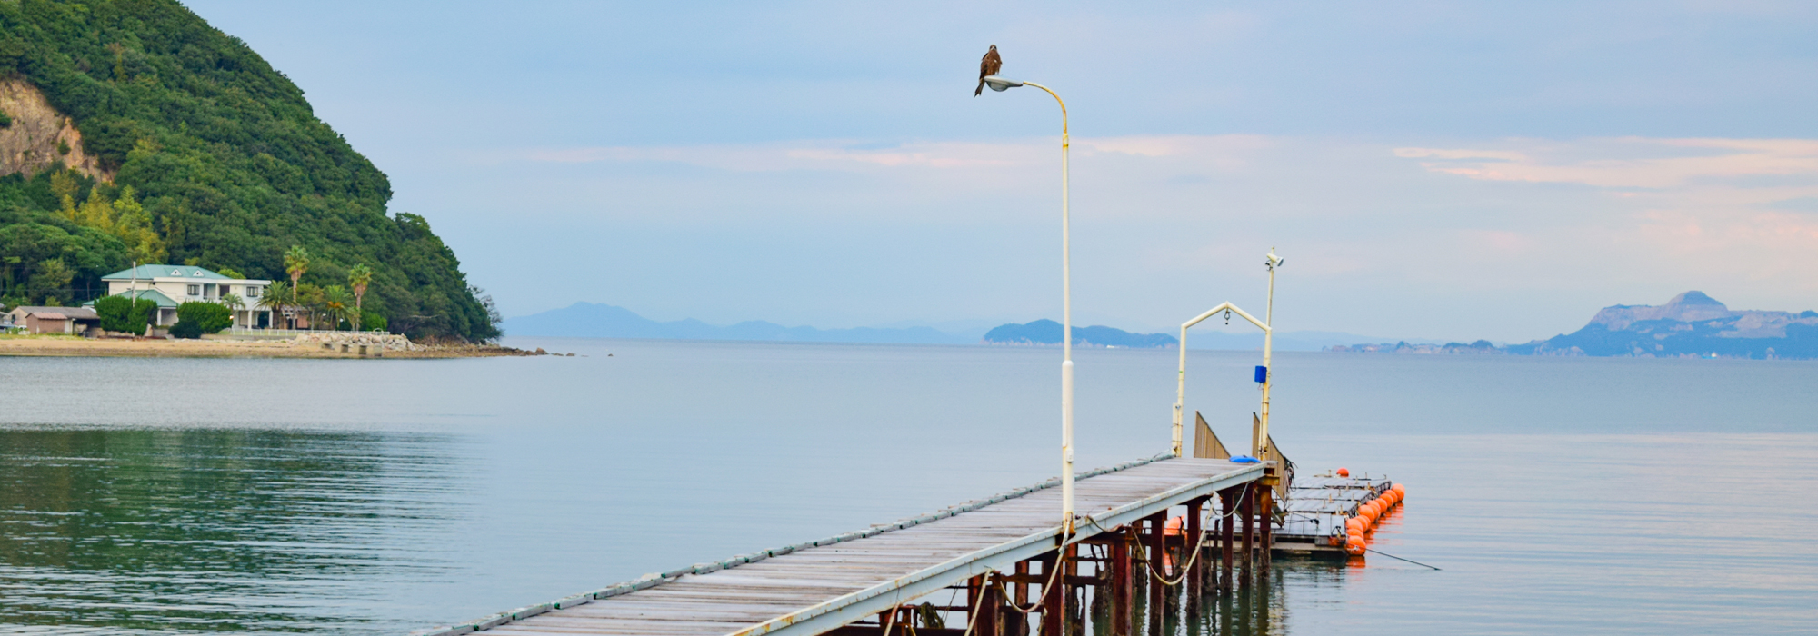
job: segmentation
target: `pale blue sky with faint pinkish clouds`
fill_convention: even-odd
[[[1527,342],[1818,309],[1811,2],[187,2],[505,316]],[[1222,329],[1222,325],[1218,325]],[[1236,329],[1236,325],[1233,325]]]

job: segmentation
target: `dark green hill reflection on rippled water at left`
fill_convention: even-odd
[[[371,629],[462,503],[447,436],[0,431],[0,607],[73,632]],[[384,574],[384,576],[376,576]],[[29,627],[27,627],[29,629]]]

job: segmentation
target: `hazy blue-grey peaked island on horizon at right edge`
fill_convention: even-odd
[[[1673,296],[1665,305],[1611,305],[1583,329],[1496,347],[1485,340],[1445,345],[1336,345],[1325,351],[1414,354],[1514,356],[1634,356],[1634,358],[1818,358],[1818,311],[1731,311],[1702,291]]]

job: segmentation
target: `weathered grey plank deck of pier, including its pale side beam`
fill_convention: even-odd
[[[1265,465],[1165,458],[1094,472],[1074,485],[1074,507],[1089,522],[1069,542],[1258,482]],[[1054,554],[1060,534],[1060,489],[1022,489],[418,634],[813,636]]]

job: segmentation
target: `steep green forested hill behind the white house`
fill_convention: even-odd
[[[69,303],[133,260],[347,285],[393,331],[498,336],[454,253],[253,49],[173,0],[0,2],[0,296]]]

